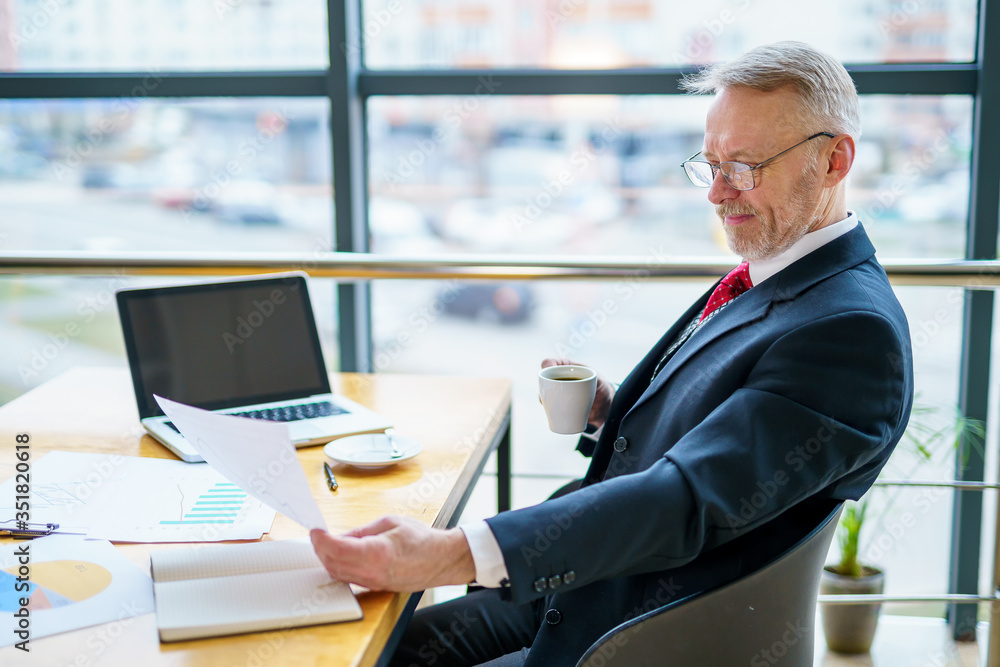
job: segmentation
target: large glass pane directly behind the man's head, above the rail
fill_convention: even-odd
[[[728,253],[679,167],[707,97],[369,102],[375,252]],[[866,96],[848,190],[880,257],[964,255],[968,97]]]

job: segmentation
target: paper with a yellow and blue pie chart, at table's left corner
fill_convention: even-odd
[[[27,590],[17,590],[18,549],[28,545]],[[0,664],[22,651],[12,645],[21,599],[28,601],[31,639],[151,613],[152,580],[110,542],[50,535],[0,547]],[[23,583],[22,583],[23,589]],[[39,650],[29,643],[31,654]],[[24,654],[29,655],[29,654]],[[36,655],[38,658],[42,656]]]

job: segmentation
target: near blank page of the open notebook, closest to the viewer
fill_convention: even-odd
[[[322,568],[157,582],[160,639],[175,641],[361,618],[350,588]]]

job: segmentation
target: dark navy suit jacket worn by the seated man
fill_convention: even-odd
[[[859,224],[708,320],[650,383],[706,292],[622,383],[584,487],[488,520],[512,601],[558,610],[527,665],[575,664],[871,486],[913,395],[906,317],[874,255]]]

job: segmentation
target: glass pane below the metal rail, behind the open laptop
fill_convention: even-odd
[[[0,405],[77,366],[127,367],[115,290],[209,279],[0,276]],[[336,370],[336,284],[311,279],[309,296],[324,361]]]

